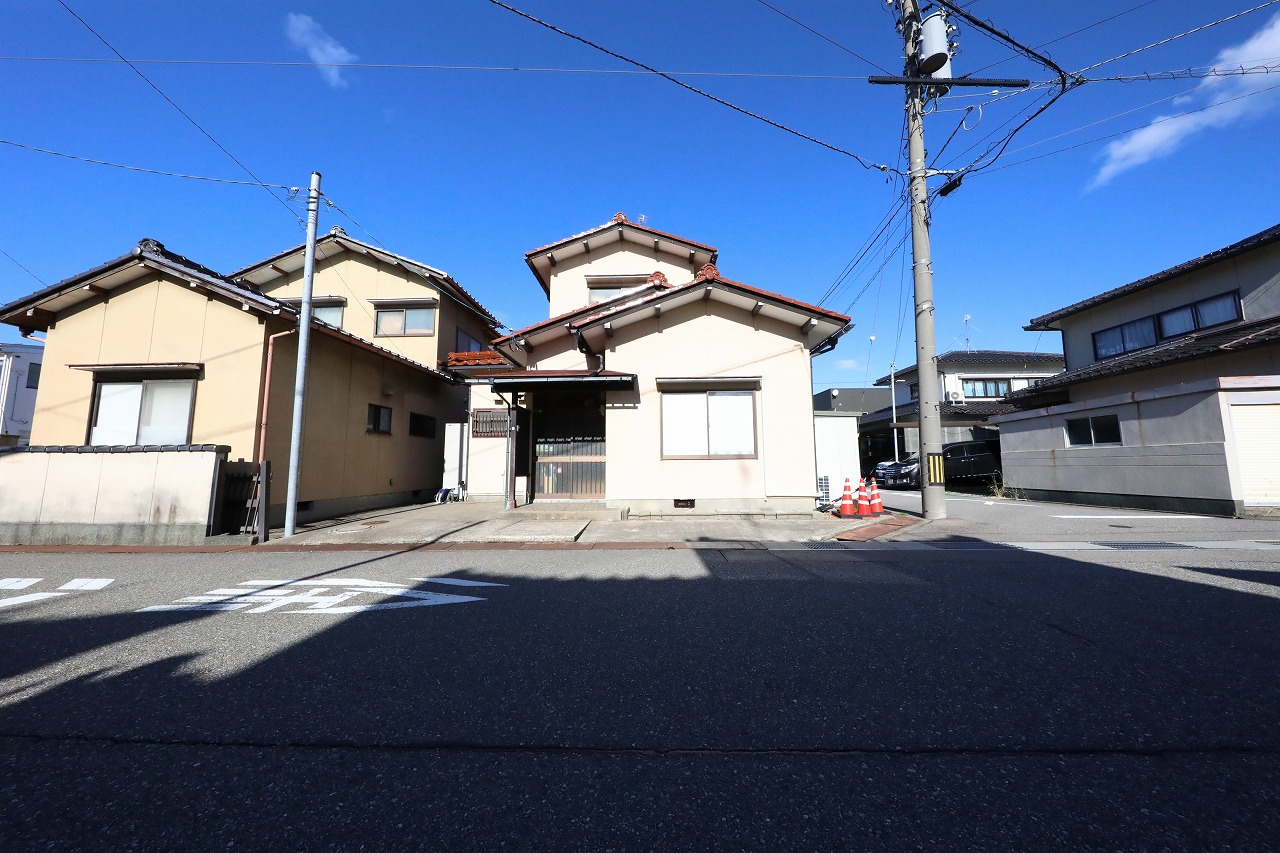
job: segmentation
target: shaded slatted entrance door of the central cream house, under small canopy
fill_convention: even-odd
[[[534,497],[604,498],[604,396],[534,397]]]

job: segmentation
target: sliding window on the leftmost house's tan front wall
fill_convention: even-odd
[[[99,382],[88,443],[186,444],[195,397],[195,379]]]

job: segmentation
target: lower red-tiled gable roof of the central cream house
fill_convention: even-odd
[[[840,333],[849,323],[844,314],[723,278],[714,264],[705,264],[685,284],[668,284],[664,277],[655,274],[650,277],[649,284],[637,291],[535,323],[495,339],[493,346],[518,360],[522,357],[518,351],[529,345],[536,346],[540,341],[564,334],[577,337],[598,329],[609,333],[614,325],[627,325],[703,298],[733,305],[749,311],[753,318],[760,315],[782,323],[797,323],[808,336],[809,348]]]

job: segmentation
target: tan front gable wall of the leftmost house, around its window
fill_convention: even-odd
[[[257,316],[155,274],[59,314],[46,334],[33,444],[88,439],[93,374],[73,364],[204,364],[191,443],[252,459],[264,359]]]

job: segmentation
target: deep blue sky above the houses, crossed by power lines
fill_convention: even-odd
[[[486,0],[65,3],[128,59],[182,60],[136,68],[261,181],[305,187],[321,172],[351,218],[326,207],[321,229],[340,224],[449,272],[509,327],[547,315],[524,252],[625,211],[718,247],[730,278],[851,314],[856,328],[815,361],[815,389],[915,361],[902,310],[910,266],[897,250],[905,228],[891,225],[841,282],[900,197],[899,182],[659,77],[622,73],[636,69]],[[1074,72],[1261,3],[965,5],[1027,45],[1057,40],[1043,51]],[[837,149],[899,164],[902,91],[868,85],[882,72],[859,58],[901,69],[878,0],[511,5]],[[1270,4],[1085,77],[1280,68],[1277,15]],[[69,61],[115,55],[58,0],[14,4],[0,42],[0,140],[250,179],[128,65]],[[957,74],[1050,78],[970,24],[960,22],[959,42]],[[1057,350],[1056,336],[1023,324],[1276,224],[1276,86],[1280,73],[1068,92],[934,205],[938,350],[964,348],[966,334],[973,348]],[[940,168],[970,163],[1044,92],[954,88],[927,118],[931,156],[946,142]],[[1069,146],[1079,147],[1061,151]],[[13,145],[0,145],[0,302],[141,237],[221,272],[303,237],[289,210],[303,209],[282,204],[283,193]],[[0,341],[17,339],[0,328]]]

